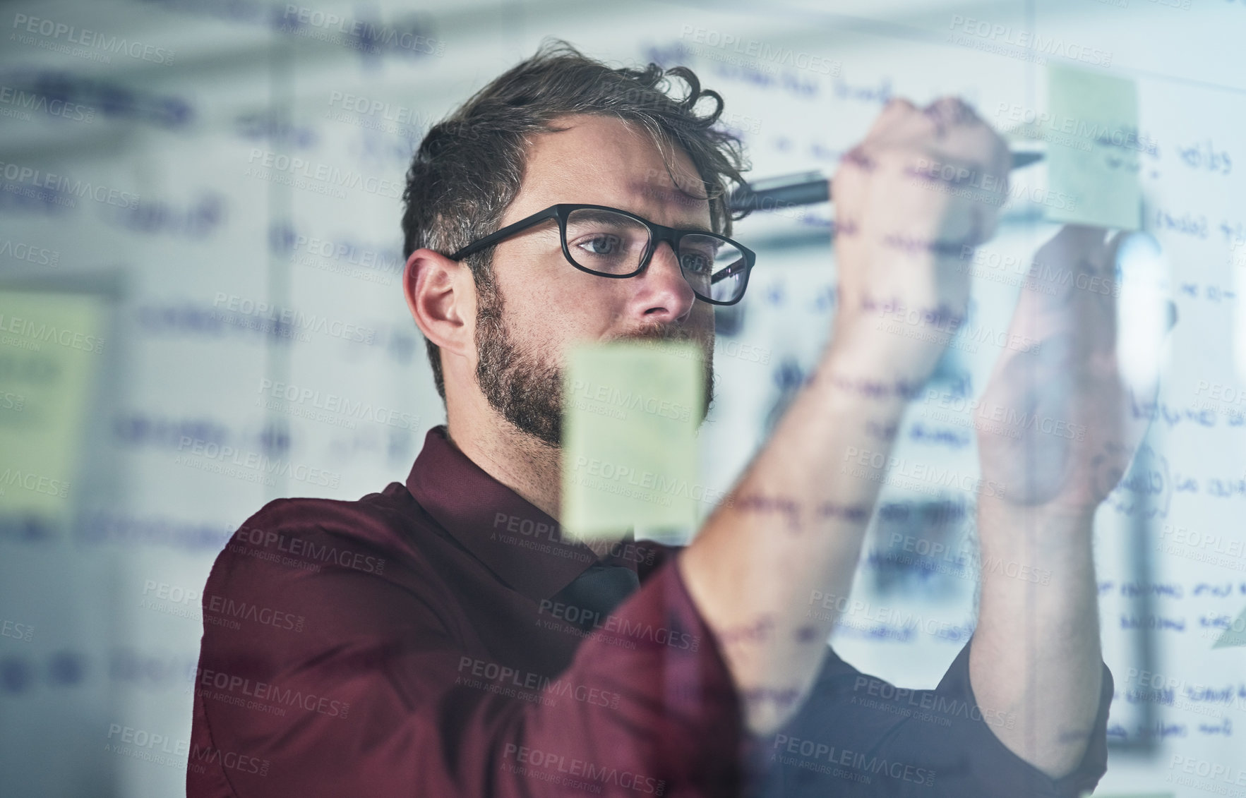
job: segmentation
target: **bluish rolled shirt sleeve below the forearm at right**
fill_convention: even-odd
[[[992,727],[1017,722],[978,707],[969,646],[934,690],[905,690],[860,672],[835,652],[781,733],[759,744],[760,794],[1078,798],[1108,769],[1113,678],[1103,666],[1099,715],[1075,771],[1053,779],[1009,751]]]

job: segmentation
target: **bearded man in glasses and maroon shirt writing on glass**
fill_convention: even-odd
[[[682,100],[659,91],[672,77]],[[698,115],[706,97],[718,107]],[[1080,434],[983,426],[983,482],[1004,487],[978,495],[983,556],[1015,568],[983,574],[977,630],[938,688],[897,690],[825,642],[876,466],[964,316],[963,256],[1006,184],[983,197],[923,177],[932,162],[1007,174],[1003,142],[958,101],[893,101],[844,159],[831,341],[695,540],[562,539],[567,346],[689,340],[709,364],[711,305],[743,291],[721,293],[685,246],[731,235],[724,188],[743,158],[711,128],[720,112],[688,70],[611,70],[554,46],[430,129],[407,174],[404,289],[447,425],[405,484],[273,502],[222,552],[188,794],[1093,789],[1111,676],[1090,522],[1140,434],[1116,412],[1101,294],[1023,294],[1009,332],[1040,345],[1001,356],[984,405],[1040,408]],[[602,208],[622,212],[614,227]],[[1111,280],[1104,239],[1068,228],[1039,259]],[[630,276],[593,265],[612,258]],[[897,309],[918,335],[881,329]],[[705,381],[709,397],[711,367]]]

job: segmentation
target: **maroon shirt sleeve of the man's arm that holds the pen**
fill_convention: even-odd
[[[272,515],[248,524],[280,530]],[[318,529],[320,537],[284,534],[299,535],[299,548],[354,547],[353,555],[312,570],[227,547],[213,566],[188,796],[634,798],[741,789],[741,707],[674,558],[616,610],[609,645],[586,639],[571,666],[549,678],[465,650],[437,610],[435,574],[369,573],[361,558],[379,552]],[[298,617],[299,629],[226,627],[209,619],[209,603],[221,600]],[[698,645],[668,645],[654,627]]]

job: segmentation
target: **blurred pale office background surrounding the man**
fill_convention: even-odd
[[[1156,144],[1143,224],[1180,324],[1158,401],[1133,408],[1154,418],[1143,454],[1096,519],[1116,678],[1099,793],[1217,789],[1168,779],[1191,758],[1246,767],[1246,649],[1212,649],[1246,608],[1242,31],[1240,0],[5,4],[0,792],[183,791],[217,552],[274,498],[404,481],[444,422],[399,285],[404,173],[430,122],[546,36],[693,67],[754,177],[832,173],[893,96],[959,95],[1023,138],[1048,65],[1135,81]],[[1027,190],[976,269],[987,332],[949,350],[897,456],[977,474],[966,406],[1057,229],[1045,179],[1014,174]],[[736,228],[759,263],[719,314],[711,494],[826,341],[832,219],[821,204]],[[886,487],[841,655],[938,681],[973,625],[973,499]]]

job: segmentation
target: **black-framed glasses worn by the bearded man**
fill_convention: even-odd
[[[744,298],[758,259],[751,249],[725,235],[668,228],[618,208],[577,203],[549,205],[472,242],[450,259],[462,260],[547,219],[558,220],[567,261],[603,278],[634,278],[648,268],[658,245],[669,243],[693,293],[713,305],[734,305]]]

